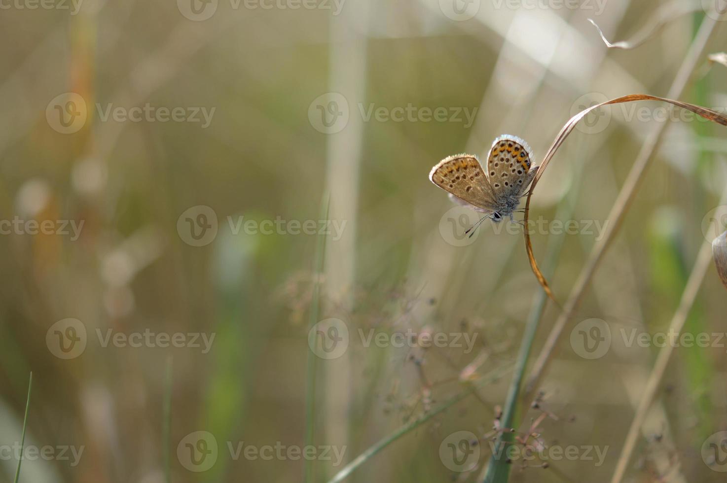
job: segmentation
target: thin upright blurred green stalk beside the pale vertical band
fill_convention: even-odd
[[[321,218],[328,219],[330,198],[328,192],[321,199]],[[308,332],[316,325],[321,312],[321,277],[323,276],[326,253],[326,235],[318,235],[316,241],[316,260],[313,272],[313,294],[310,298]],[[312,446],[316,433],[316,366],[318,357],[312,350],[308,351],[305,376],[305,445]],[[305,459],[305,482],[313,482],[313,463]]]

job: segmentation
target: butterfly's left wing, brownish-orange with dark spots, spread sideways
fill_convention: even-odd
[[[472,205],[477,211],[497,208],[494,193],[477,156],[458,154],[444,158],[429,173],[431,182],[459,198],[459,204]]]

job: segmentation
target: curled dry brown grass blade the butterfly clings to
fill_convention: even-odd
[[[563,129],[561,129],[561,132],[558,133],[558,136],[555,137],[555,141],[553,142],[553,145],[550,146],[550,149],[547,150],[547,153],[545,153],[545,157],[543,158],[542,163],[540,164],[540,168],[538,169],[538,174],[535,175],[535,178],[533,179],[533,183],[530,186],[530,190],[528,192],[528,198],[525,203],[525,226],[528,225],[529,220],[529,213],[530,213],[530,198],[533,195],[533,192],[535,190],[535,186],[538,184],[538,181],[540,180],[541,176],[545,172],[545,169],[547,168],[548,163],[550,163],[550,160],[555,155],[555,152],[558,150],[559,147],[565,142],[566,138],[571,134],[571,131],[575,128],[576,124],[582,119],[585,118],[585,116],[590,113],[594,109],[598,109],[599,107],[602,107],[604,105],[609,104],[621,104],[622,102],[634,102],[634,101],[640,101],[640,100],[655,100],[655,101],[662,101],[662,102],[669,102],[672,105],[675,105],[677,107],[681,107],[686,110],[691,110],[691,112],[696,113],[702,118],[705,118],[709,121],[713,121],[715,123],[720,123],[723,126],[727,126],[727,117],[725,115],[722,115],[718,113],[715,110],[708,109],[707,107],[701,107],[694,104],[689,104],[688,102],[681,102],[677,100],[671,100],[667,99],[665,97],[656,97],[656,96],[650,96],[648,94],[630,94],[628,96],[622,96],[622,97],[616,97],[616,99],[608,100],[606,102],[601,102],[601,104],[593,105],[591,107],[588,107],[585,110],[582,110],[580,113],[574,115],[572,118],[569,119],[569,121],[566,123],[565,126],[563,126]],[[537,277],[538,282],[540,285],[542,285],[543,290],[545,290],[545,293],[552,299],[555,304],[558,304],[558,301],[555,300],[555,296],[553,296],[553,291],[550,290],[550,285],[548,285],[547,280],[545,280],[545,275],[542,274],[540,271],[537,261],[535,260],[535,256],[533,254],[533,245],[530,240],[530,233],[528,230],[523,230],[525,234],[525,248],[528,251],[528,259],[530,261],[530,267],[533,270],[533,273],[535,274],[535,277]],[[558,307],[560,305],[558,304]]]

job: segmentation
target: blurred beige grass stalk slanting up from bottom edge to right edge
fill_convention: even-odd
[[[723,192],[722,200],[720,200],[720,205],[724,203],[727,203],[727,190]],[[707,275],[707,269],[710,268],[711,264],[712,243],[705,241],[702,243],[702,248],[699,249],[699,254],[696,256],[694,267],[691,269],[691,274],[689,275],[684,291],[682,292],[679,307],[672,317],[672,321],[669,325],[669,333],[675,333],[677,336],[681,335],[681,331],[684,327],[689,311],[696,299],[696,294],[699,292],[702,280],[704,280],[704,275]],[[629,427],[629,432],[627,433],[626,440],[624,441],[619,460],[616,462],[616,470],[614,471],[611,483],[620,483],[624,477],[626,466],[628,465],[633,450],[636,447],[636,442],[644,418],[646,418],[646,414],[651,408],[651,403],[654,402],[656,389],[659,388],[659,383],[661,383],[662,378],[664,378],[664,373],[667,370],[667,365],[669,364],[672,352],[674,352],[674,344],[666,344],[659,350],[659,355],[656,356],[654,368],[648,376],[643,396],[641,397],[636,409],[634,418],[631,421],[631,426]]]

